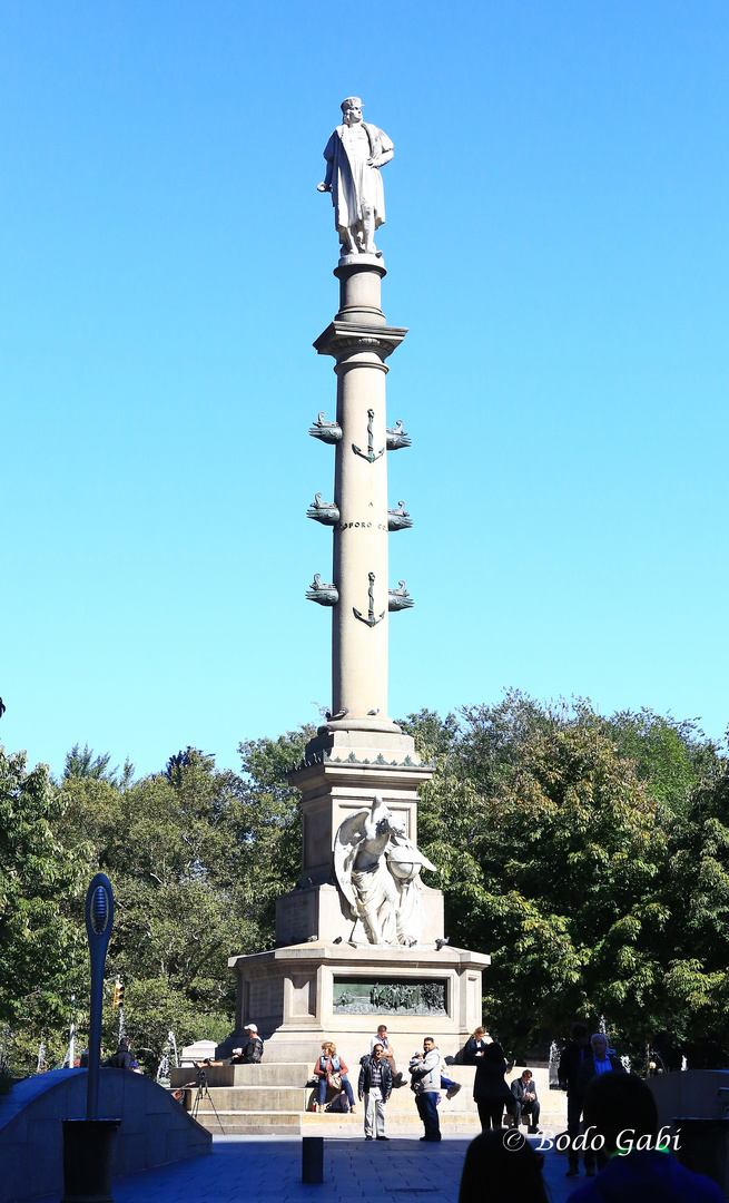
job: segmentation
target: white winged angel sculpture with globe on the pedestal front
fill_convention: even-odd
[[[355,920],[352,944],[419,942],[423,865],[435,869],[379,795],[371,810],[344,819],[334,838],[334,872]]]

